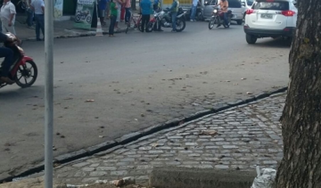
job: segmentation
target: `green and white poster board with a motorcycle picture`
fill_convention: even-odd
[[[95,0],[78,0],[74,27],[90,30],[94,7]]]

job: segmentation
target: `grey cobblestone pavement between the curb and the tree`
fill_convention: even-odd
[[[93,157],[56,167],[55,178],[89,183],[134,176],[143,182],[155,166],[254,170],[282,159],[279,118],[286,94],[207,115]]]

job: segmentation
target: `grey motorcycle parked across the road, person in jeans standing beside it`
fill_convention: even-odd
[[[177,19],[176,19],[176,31],[181,32],[186,27],[186,19],[185,13],[182,8],[178,9]],[[149,21],[148,26],[146,28],[147,32],[152,32],[154,28],[154,24],[161,24],[162,27],[172,28],[172,15],[169,9],[162,10],[158,13],[154,13],[154,17]]]

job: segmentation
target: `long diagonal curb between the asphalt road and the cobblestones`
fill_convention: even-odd
[[[65,163],[74,161],[76,159],[92,156],[92,155],[94,155],[96,153],[99,153],[99,152],[102,152],[102,151],[105,151],[104,153],[107,153],[106,150],[110,150],[110,152],[111,152],[111,151],[113,151],[113,147],[125,145],[125,144],[127,144],[129,142],[135,141],[135,140],[137,140],[139,138],[142,138],[144,136],[150,135],[152,133],[155,133],[155,132],[158,132],[158,131],[161,131],[161,130],[164,130],[164,129],[168,129],[168,128],[175,128],[175,127],[178,127],[179,125],[181,125],[181,124],[183,124],[185,122],[189,122],[189,121],[198,119],[198,118],[203,117],[205,115],[221,112],[221,111],[230,109],[232,107],[245,105],[245,104],[254,102],[256,100],[269,97],[269,96],[271,96],[273,94],[285,92],[286,90],[287,90],[287,87],[283,87],[281,89],[277,89],[277,90],[274,90],[274,91],[260,93],[258,95],[255,95],[255,96],[251,97],[251,98],[247,98],[245,100],[238,100],[238,101],[236,101],[234,103],[217,104],[212,109],[199,111],[199,112],[187,115],[187,116],[182,117],[182,118],[175,118],[175,119],[169,120],[169,121],[167,121],[165,123],[156,124],[156,125],[153,125],[151,127],[145,128],[145,129],[143,129],[141,131],[137,131],[137,132],[132,132],[132,133],[126,134],[126,135],[124,135],[124,136],[122,136],[120,138],[115,139],[114,141],[105,141],[103,143],[91,146],[91,147],[86,148],[86,149],[82,149],[82,150],[79,150],[79,151],[74,151],[74,152],[71,152],[71,153],[67,153],[67,154],[63,154],[63,155],[57,156],[57,157],[54,158],[54,164],[65,164]],[[0,183],[10,182],[14,178],[32,175],[32,174],[35,174],[35,173],[39,173],[42,170],[44,170],[44,164],[43,163],[41,163],[41,164],[39,164],[39,165],[29,169],[29,170],[26,170],[26,171],[24,171],[24,172],[22,172],[20,174],[12,175],[12,176],[0,179]]]

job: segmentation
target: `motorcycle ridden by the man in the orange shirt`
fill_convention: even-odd
[[[219,7],[214,7],[213,13],[212,13],[212,18],[211,20],[208,22],[208,29],[213,29],[214,25],[223,25],[224,28],[228,28],[230,27],[231,24],[231,18],[232,18],[233,14],[232,11],[229,10],[227,12],[227,20],[228,20],[228,24],[225,23],[224,21],[224,13],[222,13],[220,11]]]

